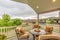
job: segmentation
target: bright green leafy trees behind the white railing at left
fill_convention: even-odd
[[[3,14],[2,19],[0,19],[0,27],[4,26],[18,26],[22,24],[22,20],[19,18],[11,19],[10,15]]]

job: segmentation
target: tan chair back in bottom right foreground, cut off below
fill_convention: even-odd
[[[40,35],[39,40],[60,40],[58,35]]]

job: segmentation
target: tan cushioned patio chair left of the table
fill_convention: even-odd
[[[29,33],[26,32],[23,28],[16,28],[16,34],[18,40],[29,40]]]

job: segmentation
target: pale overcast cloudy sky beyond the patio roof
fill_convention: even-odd
[[[54,14],[53,14],[54,13]],[[36,18],[36,12],[27,4],[11,0],[0,0],[0,18],[3,14],[9,14],[11,18],[31,19]],[[49,14],[41,14],[40,18],[58,16],[58,11]]]

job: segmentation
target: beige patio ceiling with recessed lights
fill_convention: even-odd
[[[60,0],[56,0],[56,2],[53,2],[53,0],[14,0],[14,1],[28,4],[39,14],[60,10]]]

